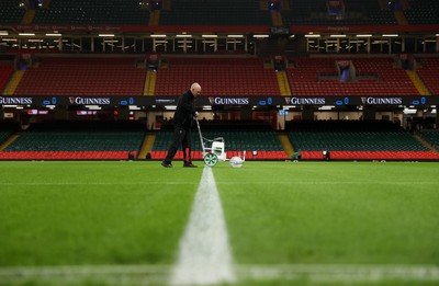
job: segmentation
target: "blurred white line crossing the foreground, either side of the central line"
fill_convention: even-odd
[[[340,283],[342,285],[380,283],[381,285],[389,281],[439,283],[438,265],[235,264],[234,270],[237,281],[309,281],[318,285],[322,283]],[[0,283],[47,282],[50,285],[54,283],[69,285],[95,282],[114,286],[157,286],[165,285],[170,273],[172,273],[172,267],[169,265],[0,267]]]

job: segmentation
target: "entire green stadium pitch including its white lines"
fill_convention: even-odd
[[[437,163],[175,165],[0,162],[0,285],[439,284]]]

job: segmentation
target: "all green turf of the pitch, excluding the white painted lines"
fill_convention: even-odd
[[[203,170],[175,165],[0,162],[0,273],[19,266],[169,267]],[[219,162],[213,171],[238,266],[439,265],[437,163],[246,162],[233,169]],[[1,286],[49,284],[0,276]],[[236,285],[320,284],[299,277]]]

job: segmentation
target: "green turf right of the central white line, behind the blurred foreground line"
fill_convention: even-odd
[[[241,263],[439,264],[438,164],[247,163],[215,171]]]

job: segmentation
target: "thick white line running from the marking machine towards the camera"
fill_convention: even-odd
[[[189,224],[180,241],[171,285],[211,285],[235,282],[223,207],[212,169],[205,167]]]

